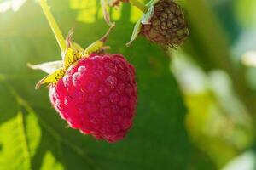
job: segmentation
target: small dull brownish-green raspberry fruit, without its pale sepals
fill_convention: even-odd
[[[189,36],[189,29],[177,3],[160,0],[154,4],[154,13],[149,22],[142,24],[140,34],[151,42],[176,47]]]

